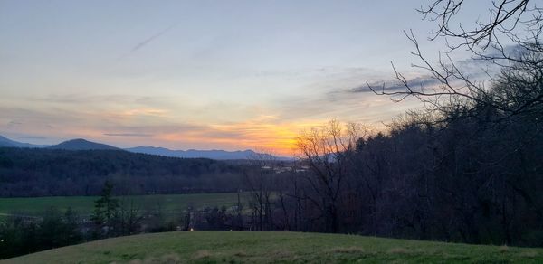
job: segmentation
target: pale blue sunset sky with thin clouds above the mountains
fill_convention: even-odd
[[[474,1],[482,2],[482,1]],[[267,149],[331,118],[384,129],[429,1],[0,0],[0,135],[34,144]],[[459,19],[486,10],[472,3]],[[461,60],[462,56],[458,58]]]

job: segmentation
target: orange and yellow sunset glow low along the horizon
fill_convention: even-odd
[[[158,111],[155,112],[158,114]],[[64,139],[82,137],[92,141],[119,147],[160,146],[169,149],[224,149],[245,150],[270,153],[275,156],[295,156],[296,137],[304,129],[319,127],[327,120],[307,120],[301,122],[281,122],[273,116],[261,116],[243,122],[225,124],[191,124],[184,128],[145,127],[143,131],[123,131],[119,129],[100,129],[98,127],[65,127]],[[132,133],[140,132],[140,133]],[[126,136],[130,135],[144,135]],[[118,137],[111,135],[119,134]]]

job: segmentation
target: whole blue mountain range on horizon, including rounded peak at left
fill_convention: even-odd
[[[6,137],[0,136],[0,147],[46,147],[51,149],[65,149],[65,150],[95,150],[95,149],[110,149],[110,150],[126,150],[132,153],[141,153],[148,155],[157,155],[157,156],[172,156],[172,157],[182,157],[182,158],[209,158],[215,160],[243,160],[243,159],[253,159],[253,158],[264,158],[264,159],[273,159],[273,160],[283,160],[288,161],[292,160],[290,157],[284,156],[272,156],[269,154],[262,154],[247,150],[236,150],[236,151],[226,151],[220,149],[213,150],[197,150],[197,149],[188,149],[188,150],[172,150],[166,147],[157,147],[157,146],[136,146],[122,149],[116,146],[110,146],[106,144],[91,142],[83,138],[75,138],[71,140],[63,141],[57,145],[44,146],[44,145],[33,145],[28,143],[17,142]]]

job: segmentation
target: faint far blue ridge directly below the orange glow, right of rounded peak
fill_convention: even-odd
[[[155,147],[155,146],[137,146],[127,148],[126,150],[135,153],[144,153],[158,156],[174,156],[174,157],[204,157],[218,160],[233,160],[233,159],[251,159],[264,157],[266,159],[275,159],[275,160],[290,160],[287,157],[281,156],[271,156],[269,154],[259,154],[252,150],[237,150],[237,151],[226,151],[226,150],[171,150],[164,147]]]

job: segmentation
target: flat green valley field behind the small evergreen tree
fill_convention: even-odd
[[[244,194],[242,193],[242,200]],[[22,214],[38,215],[50,207],[64,210],[71,207],[81,214],[93,210],[96,196],[36,197],[36,198],[0,198],[0,215]],[[164,212],[181,212],[187,206],[203,208],[205,206],[232,206],[237,203],[237,193],[196,193],[196,194],[157,194],[119,197],[119,200],[133,203],[142,210],[154,210],[161,207]]]

